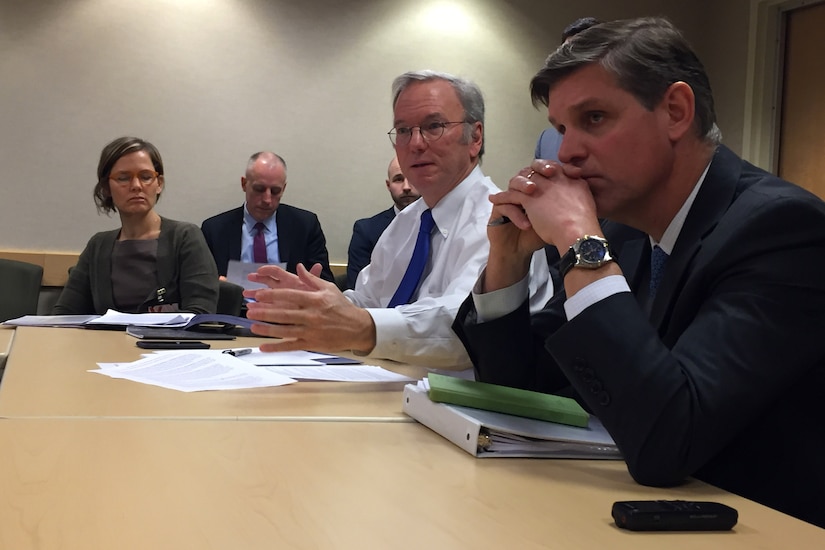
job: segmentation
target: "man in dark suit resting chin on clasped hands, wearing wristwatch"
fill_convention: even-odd
[[[583,31],[531,92],[561,164],[492,198],[512,223],[490,228],[454,325],[478,378],[571,393],[640,483],[694,476],[825,527],[823,202],[719,145],[704,68],[666,20]],[[563,292],[531,318],[523,265],[544,243]]]

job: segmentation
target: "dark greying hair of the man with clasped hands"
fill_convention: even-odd
[[[601,23],[582,31],[550,54],[530,81],[533,104],[547,105],[550,90],[576,70],[599,63],[619,86],[646,109],[653,108],[675,82],[685,82],[695,97],[695,125],[700,138],[718,145],[713,94],[702,62],[687,40],[665,18],[649,17]]]

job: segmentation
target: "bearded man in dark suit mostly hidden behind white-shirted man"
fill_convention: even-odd
[[[398,157],[393,157],[387,168],[387,190],[392,197],[393,206],[371,218],[356,220],[352,226],[352,239],[349,242],[347,260],[347,288],[355,288],[358,274],[370,263],[375,243],[378,242],[381,233],[395,218],[395,215],[421,196],[401,173]]]

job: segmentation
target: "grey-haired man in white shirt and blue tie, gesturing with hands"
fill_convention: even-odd
[[[450,325],[485,262],[488,197],[498,192],[479,167],[484,100],[472,82],[433,71],[399,76],[392,92],[390,140],[421,200],[387,227],[354,290],[342,294],[300,267],[298,276],[275,266],[252,275],[270,288],[245,292],[256,300],[248,317],[278,323],[254,325],[253,332],[284,338],[262,350],[346,349],[433,367],[470,366]],[[531,263],[538,309],[553,289],[544,254]]]

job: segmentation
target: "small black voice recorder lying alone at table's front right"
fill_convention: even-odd
[[[613,519],[631,531],[727,531],[739,512],[718,502],[626,500],[613,503]]]

